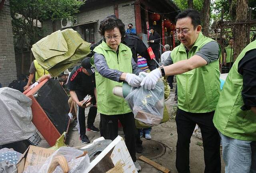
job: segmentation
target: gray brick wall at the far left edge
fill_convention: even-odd
[[[9,0],[0,10],[0,83],[8,86],[17,79]]]

